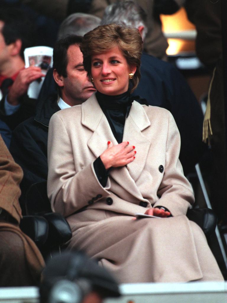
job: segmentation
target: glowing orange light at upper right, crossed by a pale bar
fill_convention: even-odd
[[[161,15],[163,24],[163,32],[179,32],[184,30],[195,29],[195,26],[188,20],[187,14],[184,8],[179,9],[173,15]],[[176,55],[179,52],[195,51],[195,42],[182,39],[167,39],[169,47],[166,50],[167,55]]]

